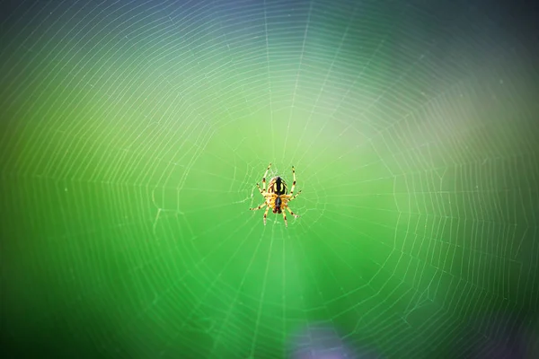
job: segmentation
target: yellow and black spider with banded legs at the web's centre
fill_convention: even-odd
[[[263,206],[268,206],[266,208],[266,212],[264,212],[264,225],[266,225],[266,217],[268,216],[268,212],[271,208],[274,214],[283,214],[285,225],[288,227],[286,213],[287,211],[290,212],[290,215],[294,215],[296,218],[299,217],[299,215],[295,215],[288,206],[288,202],[296,198],[301,193],[300,190],[296,193],[296,195],[294,195],[294,188],[296,188],[296,170],[294,170],[294,166],[292,166],[292,175],[294,176],[294,182],[292,182],[292,188],[290,189],[290,194],[288,194],[287,183],[285,182],[285,180],[281,179],[278,176],[270,180],[270,183],[268,184],[268,190],[266,190],[266,176],[268,175],[268,171],[270,171],[270,167],[271,163],[266,169],[266,173],[264,173],[264,177],[262,178],[262,188],[258,183],[256,184],[256,187],[259,188],[259,191],[261,191],[261,195],[264,197],[264,203],[262,203],[261,206],[249,209],[252,211],[257,211]]]

